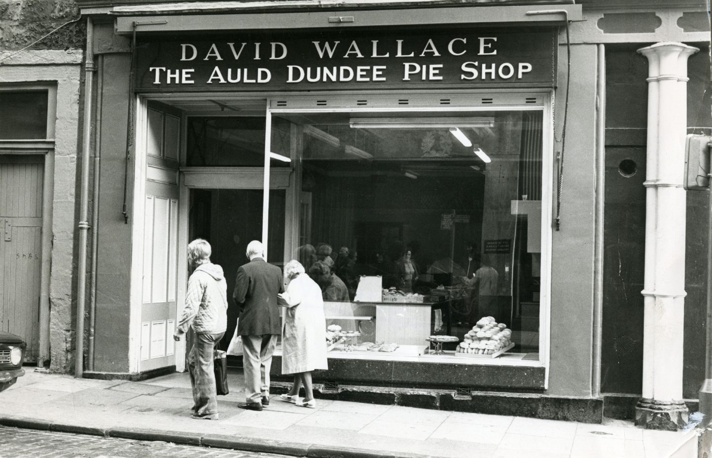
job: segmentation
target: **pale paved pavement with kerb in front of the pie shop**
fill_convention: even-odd
[[[230,394],[218,397],[219,420],[198,421],[190,417],[186,373],[137,383],[26,371],[22,383],[0,393],[0,425],[310,458],[658,458],[696,444],[694,432],[627,422],[590,425],[323,399],[307,409],[277,395],[255,412],[238,407],[244,387],[234,372]]]

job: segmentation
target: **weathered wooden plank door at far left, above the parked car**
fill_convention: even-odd
[[[42,156],[0,156],[0,329],[39,349]]]

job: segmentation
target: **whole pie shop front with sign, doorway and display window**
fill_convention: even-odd
[[[105,82],[98,96],[129,113],[133,155],[126,219],[100,230],[130,227],[130,272],[112,279],[125,286],[130,339],[98,335],[105,363],[94,370],[111,371],[112,351],[125,351],[130,373],[182,371],[184,344],[171,336],[188,274],[183,247],[209,240],[230,290],[257,239],[268,262],[299,260],[323,289],[330,368],[315,382],[325,393],[528,393],[580,399],[578,418],[600,415],[600,403],[582,408],[592,252],[570,250],[592,244],[593,195],[567,196],[572,230],[555,237],[562,16],[528,23],[535,16],[520,11],[501,26],[507,8],[482,22],[397,28],[231,31],[196,16],[201,30],[181,36],[157,29],[159,16],[117,18],[133,52],[105,65],[133,78],[130,87]],[[465,18],[477,8],[459,10]],[[590,48],[568,58],[595,63]],[[595,81],[595,71],[581,72]],[[568,122],[593,118],[590,87],[567,106]],[[587,132],[572,142],[574,169],[592,140]],[[114,184],[103,192],[118,195],[121,177]],[[98,333],[109,316],[99,305]],[[230,309],[227,335],[236,317]],[[554,322],[565,326],[553,332]],[[277,384],[289,379],[280,366],[278,351]]]

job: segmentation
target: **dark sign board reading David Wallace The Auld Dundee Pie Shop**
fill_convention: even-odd
[[[551,87],[554,46],[552,28],[152,37],[135,90]]]

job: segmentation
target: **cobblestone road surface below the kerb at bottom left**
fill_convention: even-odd
[[[0,426],[0,458],[284,458],[169,442],[147,442]]]

